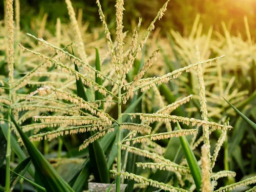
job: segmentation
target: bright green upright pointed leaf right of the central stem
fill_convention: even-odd
[[[178,127],[178,130],[181,130],[181,127],[180,127],[180,124],[177,122],[177,127]],[[201,190],[201,169],[198,165],[198,162],[195,158],[195,155],[192,151],[192,149],[190,148],[190,145],[189,145],[189,142],[188,140],[186,139],[185,136],[182,136],[182,137],[179,137],[180,138],[180,144],[182,146],[182,149],[183,149],[183,152],[184,152],[184,155],[186,157],[186,160],[189,164],[189,169],[190,169],[190,172],[192,174],[192,177],[195,181],[195,186],[196,186],[196,189],[198,192],[200,192]]]

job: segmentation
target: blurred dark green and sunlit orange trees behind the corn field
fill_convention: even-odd
[[[165,1],[124,0],[125,30],[131,31],[138,17],[143,17],[143,25],[148,26]],[[73,0],[72,3],[77,13],[79,9],[82,9],[83,21],[89,23],[89,29],[101,26],[96,0]],[[102,0],[101,3],[107,23],[113,23],[115,15],[112,13],[115,12],[115,0]],[[3,10],[3,0],[0,0],[0,20],[4,17]],[[30,29],[32,18],[38,15],[43,17],[44,13],[48,14],[46,26],[48,29],[54,30],[57,17],[61,18],[61,23],[69,22],[64,0],[20,0],[20,10],[20,24],[23,29]],[[203,33],[206,33],[210,26],[221,32],[221,21],[224,21],[232,35],[241,33],[244,37],[246,33],[241,30],[241,26],[244,26],[243,17],[247,16],[250,32],[255,34],[256,3],[254,0],[172,0],[168,4],[166,16],[156,23],[156,27],[160,27],[162,34],[166,34],[169,29],[174,29],[183,36],[187,36],[198,13],[201,15]]]

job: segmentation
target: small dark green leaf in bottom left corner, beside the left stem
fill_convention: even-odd
[[[23,176],[29,168],[30,163],[30,157],[28,157],[21,161],[20,164],[14,169],[14,172],[12,172],[12,174],[10,175],[10,191],[12,191],[15,184],[20,180],[20,177],[17,177],[16,173]]]

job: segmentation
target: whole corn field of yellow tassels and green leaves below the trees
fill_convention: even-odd
[[[255,192],[256,41],[247,17],[233,35],[201,15],[184,35],[125,31],[96,0],[90,29],[47,13],[20,27],[19,0],[0,20],[0,191]],[[113,13],[114,14],[114,13]],[[168,19],[167,19],[168,20]],[[189,28],[189,29],[190,29]]]

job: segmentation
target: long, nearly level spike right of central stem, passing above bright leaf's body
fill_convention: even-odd
[[[140,116],[141,120],[147,120],[149,123],[153,123],[155,121],[164,121],[164,122],[181,122],[183,124],[192,126],[198,125],[207,125],[211,128],[217,128],[217,129],[231,129],[233,128],[231,125],[221,125],[216,122],[210,122],[210,121],[203,121],[199,119],[194,118],[187,118],[182,116],[175,116],[175,115],[168,115],[168,114],[156,114],[156,113],[123,113],[122,115],[130,115],[131,117]]]

